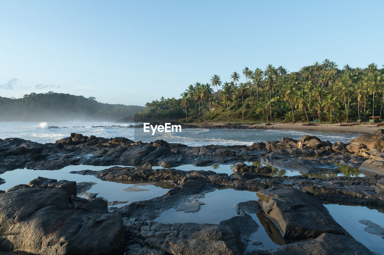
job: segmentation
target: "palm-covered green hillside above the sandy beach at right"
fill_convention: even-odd
[[[384,65],[383,65],[384,66]],[[382,116],[384,69],[372,63],[365,69],[325,59],[298,72],[268,65],[265,70],[214,75],[209,83],[189,85],[181,98],[147,103],[137,119],[185,121],[357,121]],[[226,80],[225,82],[223,80]],[[216,90],[216,91],[215,91]],[[362,119],[362,121],[366,118]]]

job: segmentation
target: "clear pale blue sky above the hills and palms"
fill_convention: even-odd
[[[0,2],[0,96],[144,105],[245,66],[384,64],[384,1]]]

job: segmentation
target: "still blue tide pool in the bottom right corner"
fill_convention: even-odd
[[[379,235],[371,234],[364,230],[367,226],[359,222],[360,220],[369,220],[384,227],[384,210],[382,208],[377,210],[369,209],[365,206],[339,204],[324,204],[324,206],[336,222],[344,227],[354,239],[364,244],[370,250],[384,254],[384,239]],[[384,234],[383,230],[381,230],[381,234]]]

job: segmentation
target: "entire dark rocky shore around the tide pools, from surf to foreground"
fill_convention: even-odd
[[[4,254],[377,254],[341,227],[323,203],[367,206],[384,211],[384,131],[377,130],[348,144],[303,136],[299,141],[254,143],[251,146],[189,147],[159,140],[134,142],[71,134],[55,144],[18,138],[0,140],[0,170],[59,169],[68,165],[129,165],[73,174],[102,180],[165,181],[166,195],[109,208],[95,196],[79,198],[93,185],[39,177],[28,185],[0,191],[0,252]],[[271,177],[268,167],[243,161],[297,169],[302,173],[335,173],[332,163],[360,167],[366,177],[326,180]],[[327,161],[327,162],[326,162]],[[237,163],[238,162],[238,163]],[[234,173],[182,171],[172,167],[237,163]],[[161,165],[165,168],[152,169]],[[376,175],[375,175],[376,174]],[[2,180],[0,181],[7,181]],[[164,210],[199,211],[199,196],[217,189],[255,192],[255,199],[236,206],[238,216],[219,224],[157,222]],[[1,186],[0,186],[1,189]],[[119,201],[111,201],[118,203]],[[247,250],[258,230],[257,214],[280,247],[258,245]],[[381,226],[364,221],[374,233]],[[112,226],[112,227],[111,227]],[[28,230],[25,230],[28,229]],[[380,232],[381,231],[381,232]],[[377,235],[379,235],[377,234]],[[279,240],[279,241],[276,241]]]

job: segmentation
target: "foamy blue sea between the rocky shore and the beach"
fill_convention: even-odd
[[[69,137],[72,132],[84,136],[104,138],[126,137],[134,141],[151,142],[162,139],[169,143],[180,143],[189,146],[201,145],[252,145],[254,142],[280,141],[282,137],[300,139],[305,134],[319,137],[330,142],[349,142],[360,136],[358,133],[348,132],[317,132],[280,129],[182,129],[181,132],[142,132],[142,127],[128,127],[133,123],[112,122],[80,122],[80,121],[52,121],[52,122],[22,122],[1,121],[0,139],[18,137],[40,143],[55,142]],[[141,123],[137,123],[141,124]],[[49,128],[50,126],[60,127]],[[135,131],[136,129],[136,131]]]

